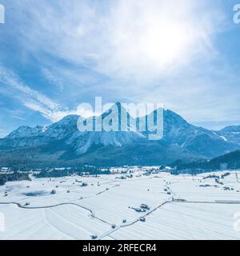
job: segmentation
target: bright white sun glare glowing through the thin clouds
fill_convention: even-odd
[[[166,15],[171,7],[156,2],[156,8],[135,3],[131,8],[119,9],[112,42],[122,74],[138,74],[141,80],[145,74],[155,77],[170,70],[171,66],[181,66],[194,52],[192,46],[200,41],[195,31],[197,27],[190,22],[191,17],[186,18],[188,10],[176,10],[173,15]]]

